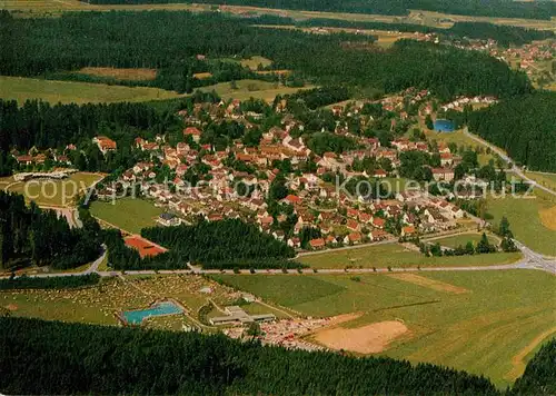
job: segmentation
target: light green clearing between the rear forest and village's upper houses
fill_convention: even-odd
[[[232,89],[230,82],[220,82],[214,86],[198,88],[200,91],[210,92],[215,90],[222,99],[247,100],[249,98],[262,99],[271,102],[277,95],[295,93],[300,89],[315,88],[306,86],[302,88],[290,88],[279,86],[278,82],[268,82],[259,80],[239,80],[236,81],[237,89]]]

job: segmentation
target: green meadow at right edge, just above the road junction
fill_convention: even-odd
[[[555,206],[556,204],[542,197],[488,198],[487,211],[494,216],[494,224],[506,216],[514,236],[527,247],[544,255],[556,256],[556,229],[543,225],[539,216],[540,212],[550,210]]]

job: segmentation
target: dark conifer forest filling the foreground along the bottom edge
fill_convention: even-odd
[[[0,318],[4,394],[497,395],[484,377],[224,335]]]

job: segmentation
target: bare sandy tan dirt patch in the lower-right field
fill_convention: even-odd
[[[401,321],[388,320],[357,328],[335,327],[317,331],[315,340],[330,349],[378,354],[408,331]]]

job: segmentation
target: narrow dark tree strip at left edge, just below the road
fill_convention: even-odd
[[[0,290],[16,289],[75,289],[97,285],[100,280],[98,274],[72,275],[63,277],[31,278],[28,276],[0,279]]]

